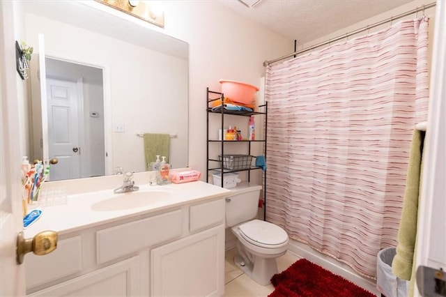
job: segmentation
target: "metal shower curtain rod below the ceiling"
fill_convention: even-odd
[[[369,30],[369,29],[371,29],[371,28],[374,28],[374,27],[376,27],[376,26],[380,26],[380,25],[382,25],[382,24],[385,24],[385,23],[388,23],[388,22],[392,22],[392,21],[394,21],[394,20],[401,19],[401,17],[406,17],[406,16],[408,16],[408,15],[412,15],[413,13],[417,13],[417,12],[420,11],[420,10],[422,10],[423,13],[424,13],[424,10],[425,10],[425,9],[431,8],[431,7],[433,7],[433,6],[436,6],[436,2],[429,3],[429,4],[427,4],[427,5],[423,5],[423,6],[421,6],[421,7],[417,7],[417,8],[415,8],[415,9],[413,9],[413,10],[409,10],[409,11],[407,11],[406,13],[401,13],[400,15],[396,15],[396,16],[394,16],[394,17],[389,17],[388,19],[383,20],[383,21],[380,21],[380,22],[377,22],[377,23],[375,23],[375,24],[371,24],[371,25],[368,25],[368,26],[364,26],[364,27],[361,28],[361,29],[357,29],[357,30],[355,30],[355,31],[351,31],[350,33],[347,32],[347,33],[345,33],[344,35],[338,36],[337,38],[332,38],[332,39],[329,39],[329,40],[324,41],[323,43],[318,43],[318,44],[316,44],[316,45],[312,45],[311,47],[306,47],[305,49],[303,49],[303,50],[299,50],[299,51],[297,51],[297,52],[293,52],[292,54],[287,54],[286,56],[281,56],[280,58],[277,58],[277,59],[274,59],[274,60],[271,60],[271,61],[264,61],[264,62],[263,62],[263,66],[266,67],[266,66],[268,66],[268,65],[270,65],[270,64],[272,64],[272,63],[275,63],[275,62],[277,62],[277,61],[281,61],[281,60],[287,59],[287,58],[289,58],[289,57],[291,57],[291,56],[295,56],[295,55],[297,55],[297,54],[302,54],[302,52],[308,52],[309,50],[314,50],[314,49],[317,48],[317,47],[321,47],[321,46],[323,46],[323,45],[328,45],[328,44],[330,44],[330,43],[334,43],[335,41],[337,41],[337,40],[341,40],[341,39],[344,39],[344,38],[347,38],[348,36],[352,36],[352,35],[355,35],[355,34],[357,34],[357,33],[361,33],[361,32],[363,32],[363,31],[367,31],[367,30]]]

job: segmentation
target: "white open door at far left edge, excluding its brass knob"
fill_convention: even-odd
[[[22,231],[19,193],[20,137],[15,70],[14,3],[0,1],[0,296],[23,296],[24,268],[15,261],[15,241]]]

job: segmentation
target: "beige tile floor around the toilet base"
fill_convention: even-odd
[[[274,291],[274,286],[261,286],[251,280],[234,264],[236,248],[226,251],[224,264],[224,296],[268,296]],[[291,264],[299,259],[291,252],[286,252],[282,257],[277,258],[277,269],[284,271]]]

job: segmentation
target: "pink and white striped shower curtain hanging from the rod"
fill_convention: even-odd
[[[410,142],[426,121],[428,20],[332,45],[266,73],[266,220],[376,276],[397,245]]]

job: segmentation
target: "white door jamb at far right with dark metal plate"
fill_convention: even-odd
[[[425,296],[446,291],[446,3],[437,1],[431,73],[429,119],[426,130],[420,223],[417,234],[417,287]],[[443,269],[443,271],[440,271]],[[435,277],[434,277],[435,276]],[[442,280],[443,278],[443,280]],[[437,283],[437,284],[436,284]],[[443,294],[440,294],[443,292]],[[420,296],[415,289],[414,296]],[[434,293],[438,294],[435,295]]]

